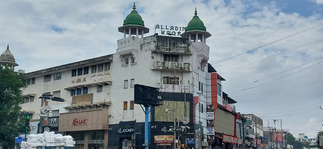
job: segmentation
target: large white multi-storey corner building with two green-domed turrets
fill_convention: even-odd
[[[134,5],[118,28],[123,38],[117,41],[116,53],[28,73],[23,110],[32,115],[35,128],[43,111],[40,124],[73,136],[77,148],[141,149],[146,146],[145,113],[134,102],[134,86],[143,84],[159,88],[163,100],[163,105],[150,110],[149,147],[173,146],[167,136],[174,135],[174,119],[178,130],[185,116],[187,134],[176,131],[181,144],[185,136],[188,148],[232,149],[241,144],[236,138],[236,101],[223,93],[225,79],[208,64],[206,39],[211,34],[196,10],[184,28],[181,37],[144,37],[149,28]],[[66,101],[42,102],[43,94]],[[165,136],[165,143],[157,143],[159,136]]]

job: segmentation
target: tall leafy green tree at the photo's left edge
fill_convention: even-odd
[[[26,87],[23,71],[14,72],[0,67],[0,146],[13,149],[14,138],[24,133],[25,119],[20,118],[24,102],[22,89]]]

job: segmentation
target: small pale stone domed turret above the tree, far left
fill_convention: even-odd
[[[9,67],[11,70],[14,70],[14,67],[18,66],[18,64],[16,64],[16,60],[9,50],[9,44],[7,49],[0,56],[0,66]]]

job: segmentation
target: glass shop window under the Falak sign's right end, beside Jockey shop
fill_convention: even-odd
[[[104,147],[104,130],[90,132],[88,135],[88,149],[102,149]]]

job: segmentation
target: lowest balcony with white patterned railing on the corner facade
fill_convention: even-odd
[[[160,92],[189,93],[189,85],[158,84]]]

